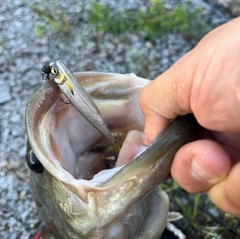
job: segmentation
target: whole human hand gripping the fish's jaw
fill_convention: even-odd
[[[191,193],[206,191],[240,216],[240,18],[207,34],[143,88],[139,102],[147,145],[169,119],[193,113],[203,131],[175,155],[171,175]]]

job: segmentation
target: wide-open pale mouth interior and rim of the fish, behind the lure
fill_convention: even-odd
[[[28,106],[28,136],[34,154],[54,177],[66,183],[88,180],[94,187],[120,170],[112,168],[127,133],[143,130],[138,93],[148,81],[134,74],[81,73],[76,78],[95,100],[116,142],[109,143],[72,104],[64,103],[54,82],[44,85]]]

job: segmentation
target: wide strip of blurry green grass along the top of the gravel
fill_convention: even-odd
[[[154,40],[172,31],[189,39],[201,38],[209,29],[201,19],[201,9],[190,9],[190,3],[186,3],[167,10],[162,0],[151,0],[146,10],[118,11],[93,2],[89,20],[97,31],[113,35],[140,32],[146,39]]]

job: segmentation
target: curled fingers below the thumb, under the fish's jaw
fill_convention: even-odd
[[[219,208],[240,216],[239,151],[212,140],[184,145],[175,155],[171,175],[190,193],[205,191]]]

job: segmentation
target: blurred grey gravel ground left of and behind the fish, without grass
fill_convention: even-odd
[[[31,238],[41,220],[28,187],[25,166],[25,109],[41,86],[41,66],[62,60],[73,71],[129,73],[154,79],[193,47],[181,35],[167,34],[154,44],[137,33],[124,37],[98,34],[88,22],[86,0],[54,1],[55,14],[68,16],[71,31],[55,33],[32,7],[40,0],[0,2],[0,238]],[[66,3],[67,2],[67,3]],[[80,3],[79,3],[80,2]],[[101,1],[101,2],[107,2]],[[145,6],[144,0],[110,1],[116,8]],[[168,1],[175,4],[179,1]],[[184,2],[184,1],[182,1]],[[203,7],[204,17],[218,25],[231,15],[206,1],[192,0]],[[32,6],[32,7],[30,7]],[[42,26],[42,36],[36,33]]]

